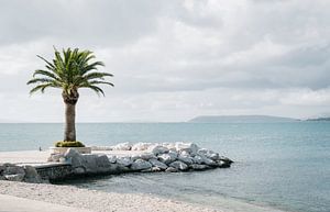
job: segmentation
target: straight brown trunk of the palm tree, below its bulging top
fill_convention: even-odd
[[[76,104],[65,103],[64,141],[76,141]]]

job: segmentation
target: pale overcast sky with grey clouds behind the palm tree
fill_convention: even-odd
[[[53,45],[112,72],[78,122],[330,114],[328,0],[0,0],[0,121],[62,122],[61,90],[29,96]]]

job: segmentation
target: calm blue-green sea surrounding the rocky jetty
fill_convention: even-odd
[[[120,142],[195,142],[226,155],[230,169],[120,175],[69,181],[103,191],[152,193],[217,207],[217,198],[301,212],[330,211],[330,123],[78,124],[89,145]],[[0,150],[46,148],[62,124],[0,124]]]

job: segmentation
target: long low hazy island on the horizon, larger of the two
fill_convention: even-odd
[[[197,116],[189,122],[194,123],[279,123],[297,122],[290,118],[278,118],[270,115],[204,115]]]

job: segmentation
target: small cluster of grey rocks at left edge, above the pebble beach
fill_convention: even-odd
[[[18,166],[14,164],[0,164],[0,180],[43,182],[36,169],[32,166]]]

